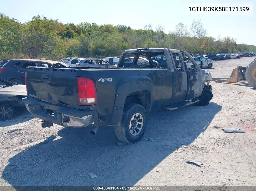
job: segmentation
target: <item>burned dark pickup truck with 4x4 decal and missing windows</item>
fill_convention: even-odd
[[[152,57],[161,57],[158,64]],[[185,56],[190,60],[185,61]],[[122,142],[137,142],[156,107],[175,110],[212,99],[211,74],[185,51],[167,48],[125,50],[117,68],[27,67],[28,111],[64,127],[115,126]]]

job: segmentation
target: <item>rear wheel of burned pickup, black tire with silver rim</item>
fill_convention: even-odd
[[[136,117],[137,113],[139,115],[137,115]],[[137,128],[133,128],[135,123]],[[142,124],[138,124],[138,123],[142,123]],[[131,124],[131,127],[130,127],[130,124]],[[144,107],[136,103],[129,103],[129,104],[126,104],[124,107],[121,124],[115,127],[115,134],[121,142],[125,142],[128,144],[138,142],[144,135],[146,126],[147,126],[147,113]]]

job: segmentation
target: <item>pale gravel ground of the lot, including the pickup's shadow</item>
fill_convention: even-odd
[[[228,78],[254,58],[214,61],[209,72]],[[41,128],[27,112],[1,122],[0,185],[256,185],[256,91],[245,82],[211,84],[208,106],[151,112],[144,138],[132,145],[118,142],[110,127],[96,135]]]

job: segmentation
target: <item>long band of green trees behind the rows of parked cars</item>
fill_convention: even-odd
[[[0,13],[0,59],[48,58],[66,56],[119,56],[125,49],[165,47],[182,49],[189,53],[255,52],[253,45],[237,44],[226,36],[207,36],[200,20],[187,27],[183,23],[166,34],[159,24],[134,30],[129,26],[98,25],[83,22],[63,24],[58,20],[34,16],[31,21],[20,23]]]

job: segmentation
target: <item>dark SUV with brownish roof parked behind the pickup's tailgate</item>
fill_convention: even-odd
[[[65,65],[45,59],[15,59],[7,60],[0,66],[0,78],[16,84],[25,84],[25,72],[28,66],[63,67]]]

